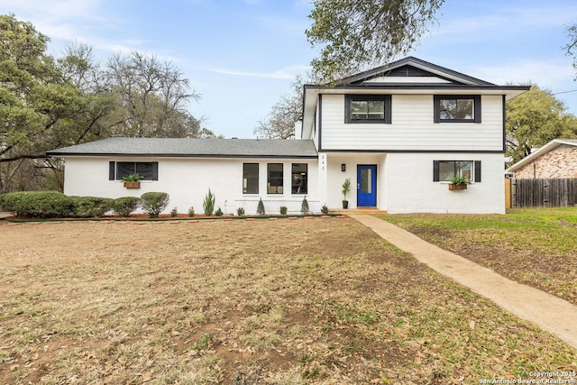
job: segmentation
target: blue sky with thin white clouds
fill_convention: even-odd
[[[309,0],[0,0],[0,14],[33,23],[56,57],[78,41],[103,64],[130,50],[172,62],[201,95],[191,113],[227,138],[252,138],[307,72],[311,9]],[[447,0],[437,20],[410,55],[496,84],[577,90],[562,49],[565,27],[577,23],[574,0]],[[577,92],[557,97],[577,115]]]

